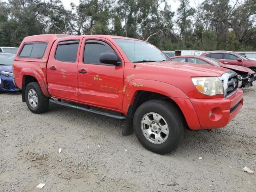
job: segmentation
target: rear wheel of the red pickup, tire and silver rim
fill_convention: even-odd
[[[25,99],[29,110],[33,113],[40,114],[48,110],[49,98],[44,96],[38,82],[31,82],[26,86]]]

